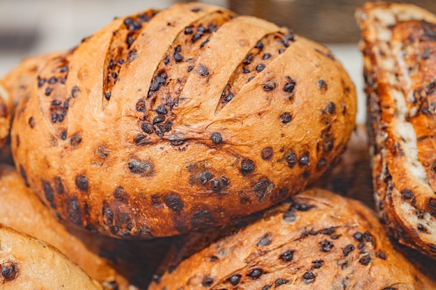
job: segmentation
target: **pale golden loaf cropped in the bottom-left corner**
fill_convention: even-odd
[[[102,289],[59,250],[0,224],[0,289]]]

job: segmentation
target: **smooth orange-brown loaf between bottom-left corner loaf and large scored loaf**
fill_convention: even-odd
[[[166,240],[123,241],[64,227],[12,166],[0,165],[0,200],[0,223],[53,245],[104,290],[146,289],[169,247]]]

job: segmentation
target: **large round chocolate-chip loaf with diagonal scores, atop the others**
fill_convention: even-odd
[[[262,19],[181,3],[49,59],[12,147],[63,220],[150,239],[228,222],[317,179],[355,126],[331,52]]]

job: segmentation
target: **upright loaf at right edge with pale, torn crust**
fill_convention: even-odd
[[[356,17],[377,208],[400,243],[435,259],[436,17],[396,3],[368,3]]]

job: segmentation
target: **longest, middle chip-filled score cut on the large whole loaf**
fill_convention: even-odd
[[[144,133],[154,133],[143,142],[160,140],[171,131],[178,118],[172,112],[173,108],[189,99],[181,96],[181,92],[189,75],[194,74],[198,58],[213,35],[233,16],[225,10],[212,11],[178,33],[155,70],[148,94],[137,102],[137,111],[143,112],[141,127]],[[171,140],[177,143],[177,140]]]

